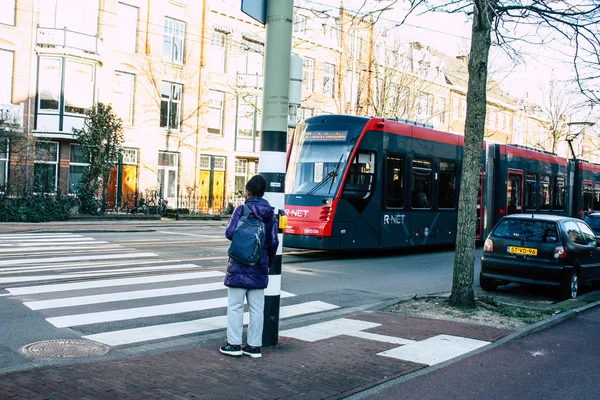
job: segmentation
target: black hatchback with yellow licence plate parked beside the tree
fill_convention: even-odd
[[[577,218],[518,214],[502,218],[486,239],[479,284],[496,290],[511,282],[556,286],[561,300],[580,284],[600,280],[600,240]]]

